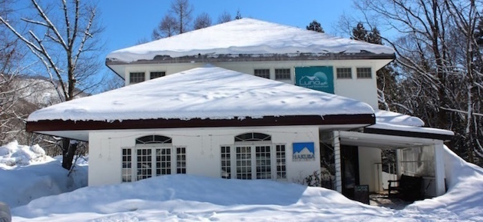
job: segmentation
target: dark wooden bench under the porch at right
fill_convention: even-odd
[[[423,198],[422,177],[412,177],[403,174],[400,179],[388,180],[388,183],[388,197],[390,198],[399,197],[405,201],[415,201]]]

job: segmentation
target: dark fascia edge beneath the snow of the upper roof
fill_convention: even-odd
[[[120,60],[106,58],[106,65],[127,64],[159,64],[159,63],[221,63],[221,62],[262,62],[262,61],[293,61],[293,60],[355,60],[355,59],[395,59],[395,54],[373,53],[326,53],[326,54],[240,54],[233,55],[198,55],[172,58],[170,56],[155,56],[152,60],[137,60],[126,63]]]

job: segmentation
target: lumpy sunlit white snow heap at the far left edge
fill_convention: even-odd
[[[17,141],[10,142],[5,146],[0,146],[0,168],[12,166],[27,166],[50,162],[54,159],[46,155],[46,151],[39,145],[23,146]]]

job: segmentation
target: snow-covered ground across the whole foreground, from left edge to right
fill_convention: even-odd
[[[351,201],[324,188],[191,175],[40,197],[52,195],[55,189],[49,191],[39,181],[50,181],[52,187],[68,184],[59,162],[46,157],[46,161],[6,166],[2,159],[13,155],[12,148],[4,147],[0,148],[0,201],[11,204],[14,221],[483,221],[483,169],[449,149],[445,152],[446,195],[392,210]],[[10,157],[4,155],[6,150]],[[28,199],[25,193],[34,195],[34,200],[21,206]]]

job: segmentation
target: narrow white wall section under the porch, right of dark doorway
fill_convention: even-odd
[[[375,164],[381,162],[381,149],[359,146],[359,184],[368,185],[369,192],[375,192],[378,186]]]

